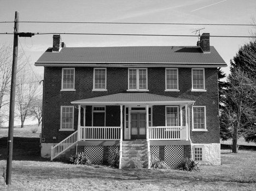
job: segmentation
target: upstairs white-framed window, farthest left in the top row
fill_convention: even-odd
[[[75,91],[74,89],[74,68],[62,68],[62,87],[61,91]]]

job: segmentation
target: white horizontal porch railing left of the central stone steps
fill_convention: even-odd
[[[80,127],[80,141],[120,140],[120,127]]]

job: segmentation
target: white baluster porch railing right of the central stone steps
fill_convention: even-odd
[[[181,140],[185,127],[149,127],[149,140]]]

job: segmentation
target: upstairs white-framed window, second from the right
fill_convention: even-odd
[[[178,69],[165,69],[165,91],[179,91],[178,85]]]

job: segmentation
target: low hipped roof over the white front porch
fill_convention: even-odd
[[[190,105],[195,101],[151,93],[123,92],[71,102],[75,105]]]

